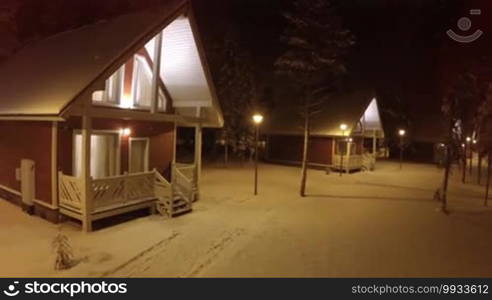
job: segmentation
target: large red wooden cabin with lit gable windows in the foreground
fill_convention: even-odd
[[[32,42],[0,64],[0,197],[53,222],[199,196],[201,131],[222,113],[189,1]],[[193,164],[177,127],[195,128]]]

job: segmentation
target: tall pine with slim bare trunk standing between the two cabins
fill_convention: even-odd
[[[287,28],[282,40],[287,49],[275,66],[300,93],[304,119],[300,195],[304,197],[311,117],[319,111],[326,92],[346,72],[344,56],[355,42],[328,0],[294,0],[292,10],[284,16]]]

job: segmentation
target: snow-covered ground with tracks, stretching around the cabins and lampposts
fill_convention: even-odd
[[[483,186],[455,171],[449,215],[433,194],[435,166],[380,162],[375,172],[209,166],[191,214],[150,216],[84,234],[63,225],[79,264],[53,271],[58,226],[0,201],[1,276],[492,276],[492,209]]]

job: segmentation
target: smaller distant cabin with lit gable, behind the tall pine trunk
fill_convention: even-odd
[[[281,105],[266,118],[265,159],[299,164],[304,121],[297,103]],[[346,130],[342,130],[342,124]],[[351,172],[373,170],[377,157],[386,156],[384,130],[373,92],[332,94],[311,120],[308,161],[312,167]]]

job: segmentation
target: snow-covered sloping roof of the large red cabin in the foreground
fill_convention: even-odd
[[[90,94],[88,89],[96,90],[96,84],[104,82],[169,24],[173,26],[164,30],[164,43],[171,39],[166,32],[179,30],[184,33],[181,38],[195,38],[196,42],[191,26],[177,28],[190,23],[188,18],[180,17],[188,5],[188,0],[169,0],[152,10],[119,16],[26,45],[0,64],[0,115],[60,115],[72,101]],[[164,47],[163,51],[187,50],[183,45]],[[173,96],[176,94],[175,101],[210,103],[210,121],[217,124],[222,117],[213,84],[206,78],[208,70],[200,47],[193,46],[196,51],[186,52],[191,54],[185,57],[191,57],[185,68],[193,72],[183,75],[179,70],[170,71],[166,68],[169,60],[166,62],[163,57],[163,75],[172,75],[168,79],[169,89]],[[183,87],[189,88],[190,82],[194,84],[193,92],[184,94]]]

